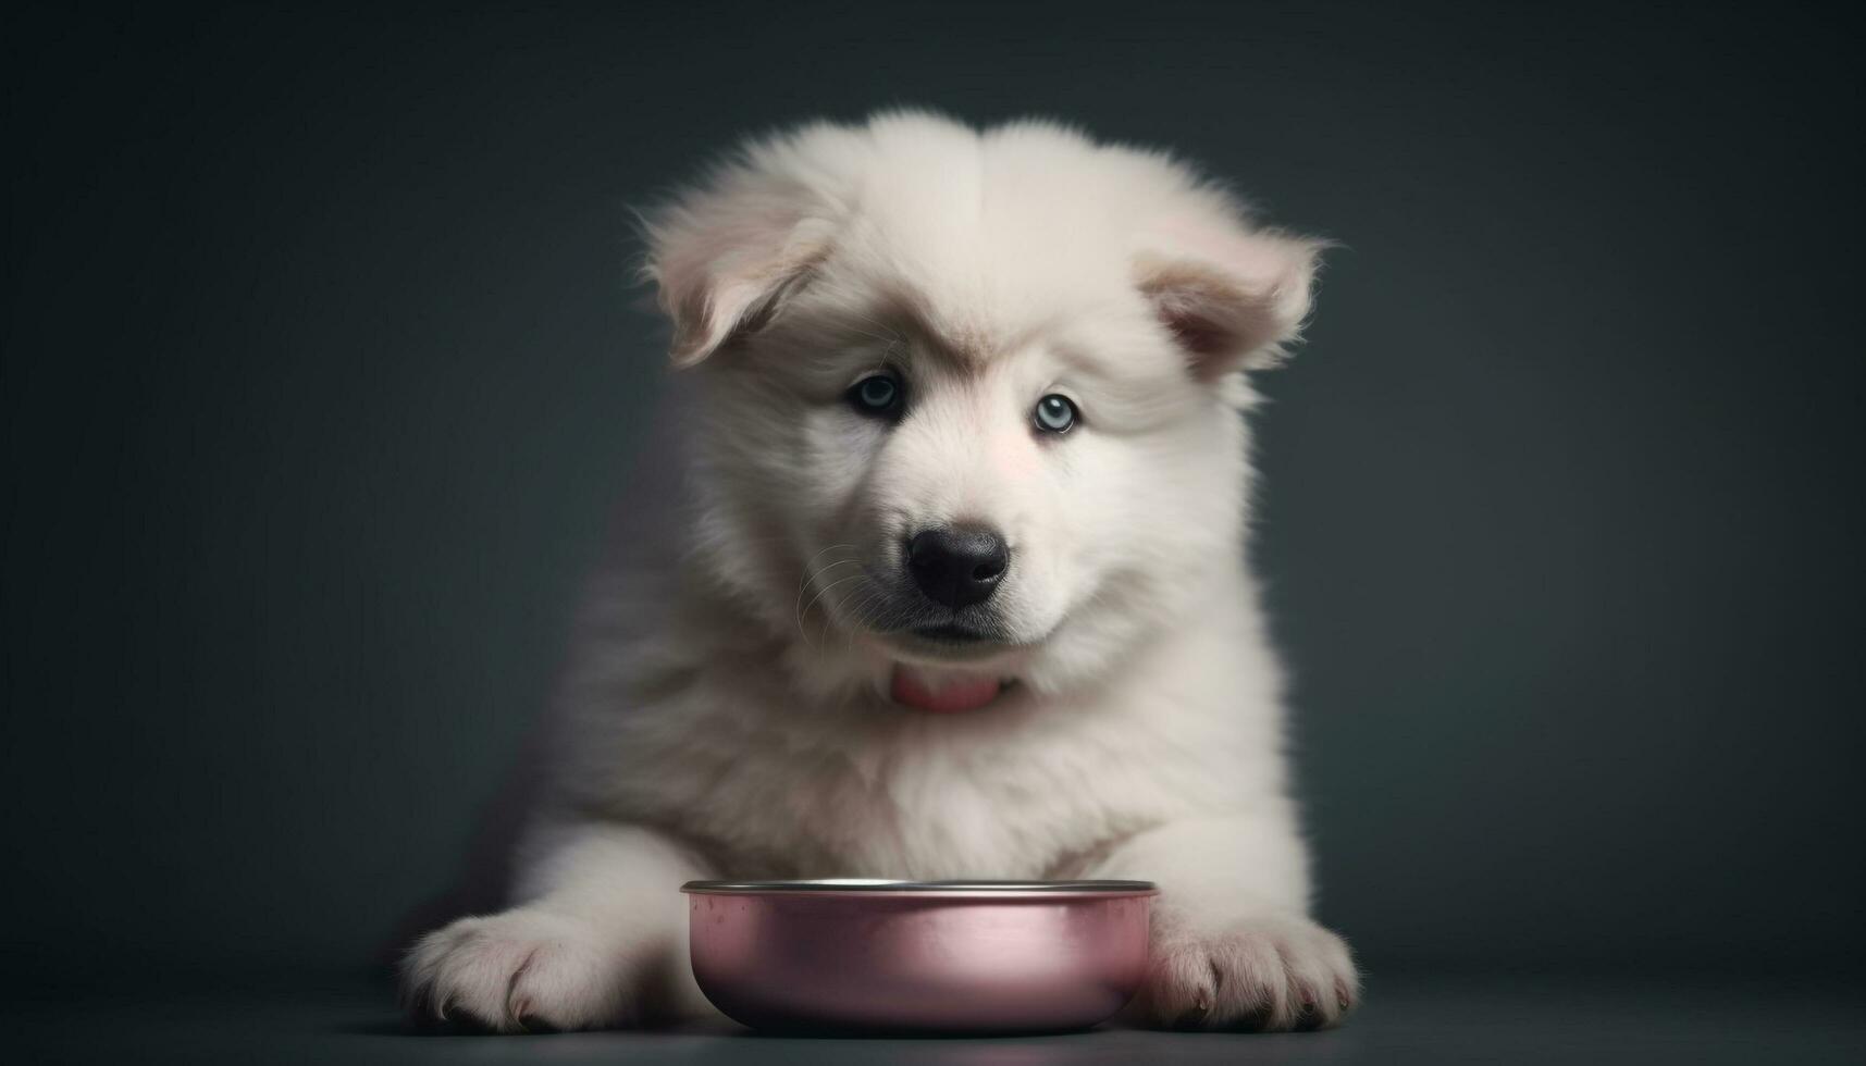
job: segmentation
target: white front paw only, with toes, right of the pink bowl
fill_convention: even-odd
[[[1140,1019],[1163,1029],[1327,1029],[1360,997],[1342,937],[1297,917],[1217,933],[1166,930],[1153,943]]]

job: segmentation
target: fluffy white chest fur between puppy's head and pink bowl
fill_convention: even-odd
[[[965,715],[804,694],[776,646],[722,638],[705,610],[595,637],[571,687],[569,795],[735,877],[1065,876],[1172,818],[1284,803],[1274,661],[1243,575],[1217,586],[1108,685]]]

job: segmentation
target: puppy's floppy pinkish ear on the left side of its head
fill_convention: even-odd
[[[802,189],[733,168],[644,220],[642,273],[674,321],[674,366],[767,323],[829,252],[829,224],[810,218],[808,202]]]

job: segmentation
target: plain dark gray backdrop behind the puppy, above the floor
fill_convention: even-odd
[[[608,515],[657,506],[616,489],[662,379],[629,205],[894,103],[1174,146],[1344,245],[1263,379],[1256,556],[1375,980],[1857,969],[1866,175],[1817,7],[0,39],[9,976],[371,965],[498,814]]]

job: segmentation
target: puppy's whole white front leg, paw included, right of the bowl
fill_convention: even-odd
[[[1323,1029],[1360,995],[1347,945],[1308,919],[1306,857],[1288,812],[1161,825],[1121,842],[1092,876],[1161,885],[1133,1021]]]

